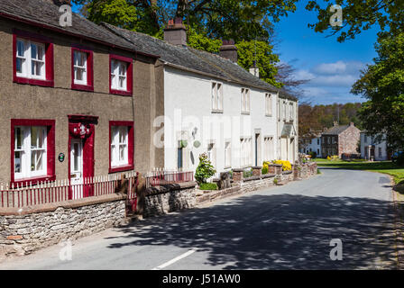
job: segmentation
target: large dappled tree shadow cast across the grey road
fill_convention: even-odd
[[[367,198],[253,194],[133,222],[109,247],[197,247],[204,264],[225,269],[395,269],[394,212]],[[342,261],[330,260],[332,238],[343,242]]]

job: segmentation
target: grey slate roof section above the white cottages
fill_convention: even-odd
[[[234,64],[232,61],[222,58],[216,54],[206,51],[193,49],[190,47],[181,47],[167,43],[166,41],[156,39],[150,35],[140,32],[128,31],[108,23],[101,25],[121,35],[126,40],[133,43],[134,49],[140,51],[149,50],[153,54],[161,56],[161,60],[178,66],[191,69],[195,72],[201,72],[211,76],[222,78],[229,82],[236,82],[242,85],[254,86],[262,90],[278,92],[278,88],[253,76],[243,67]],[[280,90],[280,97],[296,100],[295,97]]]

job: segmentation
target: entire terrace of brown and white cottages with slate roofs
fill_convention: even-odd
[[[179,22],[166,42],[59,20],[51,0],[0,2],[0,182],[194,170],[202,152],[219,172],[295,161],[296,99],[235,64],[232,42],[221,58]]]

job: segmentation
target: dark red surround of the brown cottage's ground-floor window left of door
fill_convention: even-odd
[[[47,156],[47,175],[23,178],[15,180],[14,178],[14,145],[15,145],[15,126],[47,126],[48,134],[46,137],[46,156]],[[54,120],[42,120],[42,119],[12,119],[11,120],[11,184],[28,185],[37,184],[41,181],[54,181],[55,175],[55,121]]]

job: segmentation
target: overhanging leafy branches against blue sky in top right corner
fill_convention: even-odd
[[[317,23],[308,27],[317,32],[331,31],[330,35],[339,33],[337,40],[354,39],[361,31],[366,31],[378,24],[381,28],[380,37],[397,35],[404,29],[404,1],[401,0],[323,0],[326,7],[321,7],[319,1],[311,0],[306,5],[309,11],[317,11]],[[332,4],[343,8],[343,26],[332,27],[329,23]],[[345,31],[346,30],[346,31]]]

